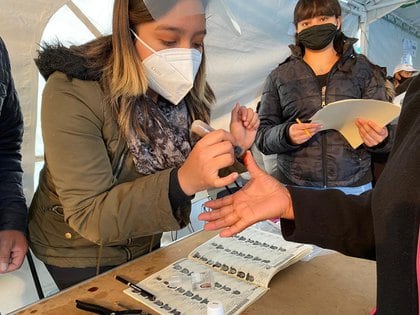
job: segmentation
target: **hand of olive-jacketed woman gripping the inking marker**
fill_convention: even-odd
[[[232,135],[215,130],[200,139],[184,164],[178,170],[178,181],[186,195],[194,195],[207,188],[220,188],[232,184],[238,173],[219,177],[219,170],[235,161]]]

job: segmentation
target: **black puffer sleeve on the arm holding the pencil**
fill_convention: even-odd
[[[258,115],[260,126],[255,144],[263,154],[279,154],[299,147],[290,143],[288,131],[292,123],[284,118],[273,73],[264,83]]]

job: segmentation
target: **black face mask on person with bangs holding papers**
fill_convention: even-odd
[[[332,42],[337,31],[337,25],[331,23],[315,25],[301,31],[297,39],[306,48],[320,50]]]

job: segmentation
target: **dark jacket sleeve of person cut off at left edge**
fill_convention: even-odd
[[[20,155],[22,136],[23,118],[9,55],[0,38],[0,230],[26,231],[27,207]]]

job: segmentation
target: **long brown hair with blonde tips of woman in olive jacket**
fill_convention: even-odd
[[[175,3],[176,0],[171,1],[171,4]],[[112,108],[126,139],[138,135],[142,140],[149,140],[144,126],[138,122],[135,107],[136,99],[147,91],[147,78],[130,33],[130,28],[149,21],[153,21],[153,17],[142,0],[115,0],[112,35],[72,47],[76,54],[85,58],[87,66],[100,75],[105,104]],[[193,119],[210,120],[210,106],[215,96],[206,82],[204,51],[194,86],[186,100]],[[149,117],[148,109],[142,110],[144,117]]]

